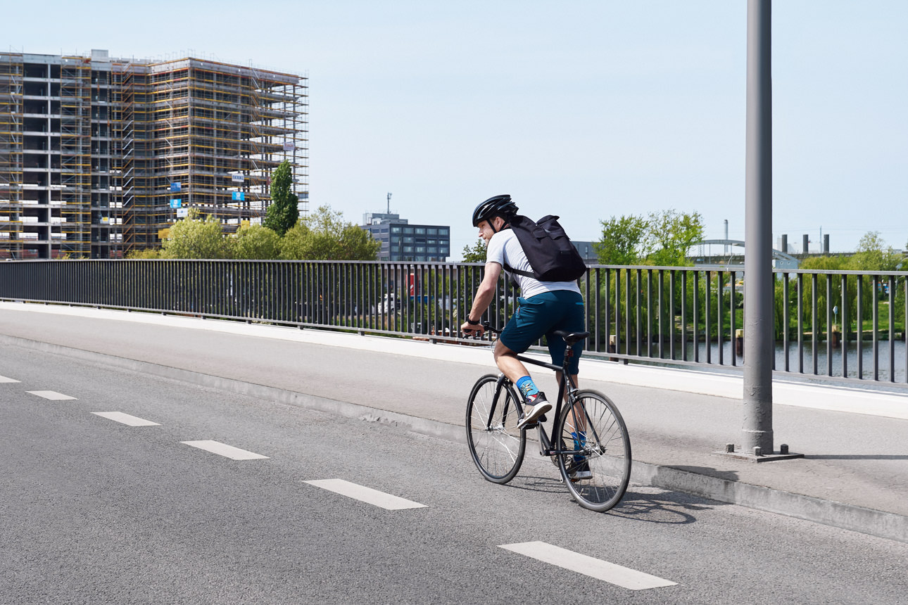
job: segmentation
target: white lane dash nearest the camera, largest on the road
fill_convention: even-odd
[[[676,582],[656,578],[643,571],[632,570],[615,563],[588,557],[579,552],[553,546],[546,542],[521,542],[519,544],[501,544],[500,548],[526,555],[537,561],[557,565],[570,571],[583,573],[597,580],[607,581],[628,590],[646,590],[674,586]]]

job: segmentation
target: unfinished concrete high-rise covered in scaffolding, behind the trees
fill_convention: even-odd
[[[122,258],[192,208],[259,219],[284,160],[305,204],[307,90],[191,57],[0,53],[0,258]]]

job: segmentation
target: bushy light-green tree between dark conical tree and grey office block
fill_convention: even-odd
[[[321,206],[299,220],[281,241],[281,259],[375,260],[381,242],[369,231],[344,222],[343,213]]]

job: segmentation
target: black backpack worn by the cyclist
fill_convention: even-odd
[[[510,228],[514,230],[533,272],[505,263],[504,268],[509,273],[539,281],[573,281],[587,272],[583,257],[570,242],[565,229],[558,224],[558,217],[549,214],[534,222],[516,215],[510,219]]]

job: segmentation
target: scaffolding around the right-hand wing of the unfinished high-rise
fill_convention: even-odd
[[[143,178],[146,194],[132,198],[124,163],[124,216],[144,218],[141,226],[124,226],[127,252],[160,245],[163,229],[189,208],[227,229],[261,219],[271,202],[271,171],[285,159],[298,196],[308,199],[308,132],[300,128],[308,95],[299,76],[192,58],[132,69],[143,73],[149,161],[139,170],[133,159],[133,181]],[[128,142],[124,136],[124,158]]]

